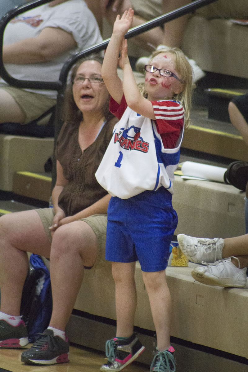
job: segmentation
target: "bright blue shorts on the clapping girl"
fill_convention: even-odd
[[[164,270],[177,227],[172,195],[164,187],[144,191],[129,199],[110,199],[105,259],[139,260],[142,271]]]

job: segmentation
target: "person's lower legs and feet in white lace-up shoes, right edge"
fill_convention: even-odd
[[[244,288],[247,282],[248,234],[234,238],[195,238],[178,234],[181,251],[192,262],[203,263],[191,275],[200,283]]]

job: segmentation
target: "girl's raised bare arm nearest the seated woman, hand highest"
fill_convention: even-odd
[[[121,102],[123,96],[123,84],[117,74],[119,53],[125,33],[131,27],[133,21],[133,10],[125,11],[120,18],[116,17],[111,39],[105,52],[102,64],[102,78],[109,94],[117,103]]]

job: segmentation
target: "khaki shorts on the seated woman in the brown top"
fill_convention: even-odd
[[[53,208],[41,208],[35,209],[38,213],[41,222],[44,226],[45,232],[48,239],[52,243],[51,230],[49,227],[53,223],[54,209]],[[106,214],[94,214],[87,218],[82,218],[79,221],[85,221],[94,231],[97,239],[98,254],[96,261],[92,266],[93,269],[99,269],[102,266],[111,264],[111,262],[105,260],[105,245],[106,245],[106,228],[107,228],[107,215]],[[87,268],[87,267],[86,267]]]

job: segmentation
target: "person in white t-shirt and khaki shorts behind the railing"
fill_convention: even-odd
[[[12,19],[3,40],[3,63],[14,78],[58,81],[74,54],[102,41],[83,0],[54,0]],[[56,103],[52,90],[20,89],[0,80],[0,123],[27,124]]]

